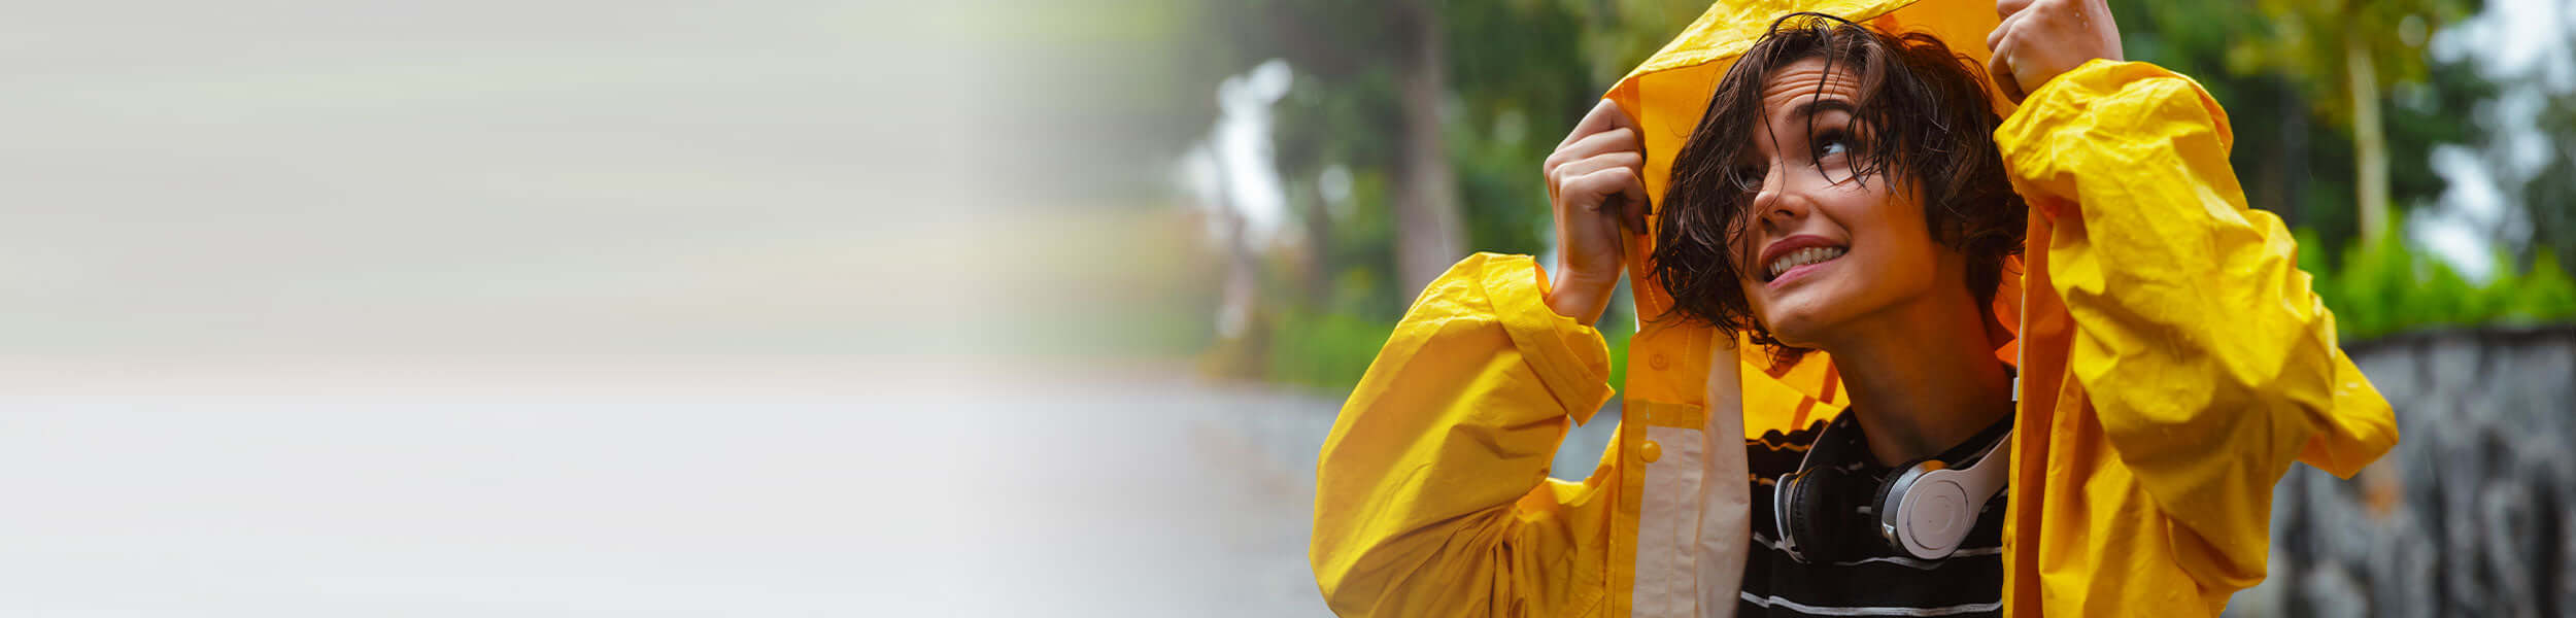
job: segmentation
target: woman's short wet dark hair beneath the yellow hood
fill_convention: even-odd
[[[2027,216],[1994,147],[2002,118],[1976,62],[1929,33],[1896,36],[1824,13],[1772,21],[1770,33],[1718,80],[1708,113],[1672,160],[1649,268],[1672,294],[1672,312],[1728,337],[1752,332],[1777,363],[1806,350],[1775,340],[1736,283],[1734,239],[1759,216],[1749,206],[1765,175],[1744,160],[1754,139],[1770,139],[1765,77],[1819,57],[1826,80],[1850,72],[1860,85],[1852,121],[1842,126],[1852,136],[1852,175],[1837,183],[1893,183],[1901,196],[1919,198],[1932,239],[1968,258],[1968,294],[1978,309],[1991,309],[2004,258],[2022,252]]]

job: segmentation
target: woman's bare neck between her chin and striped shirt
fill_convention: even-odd
[[[1878,464],[1935,456],[2012,412],[2012,373],[1994,358],[1986,319],[1973,301],[1924,299],[1824,345]]]

